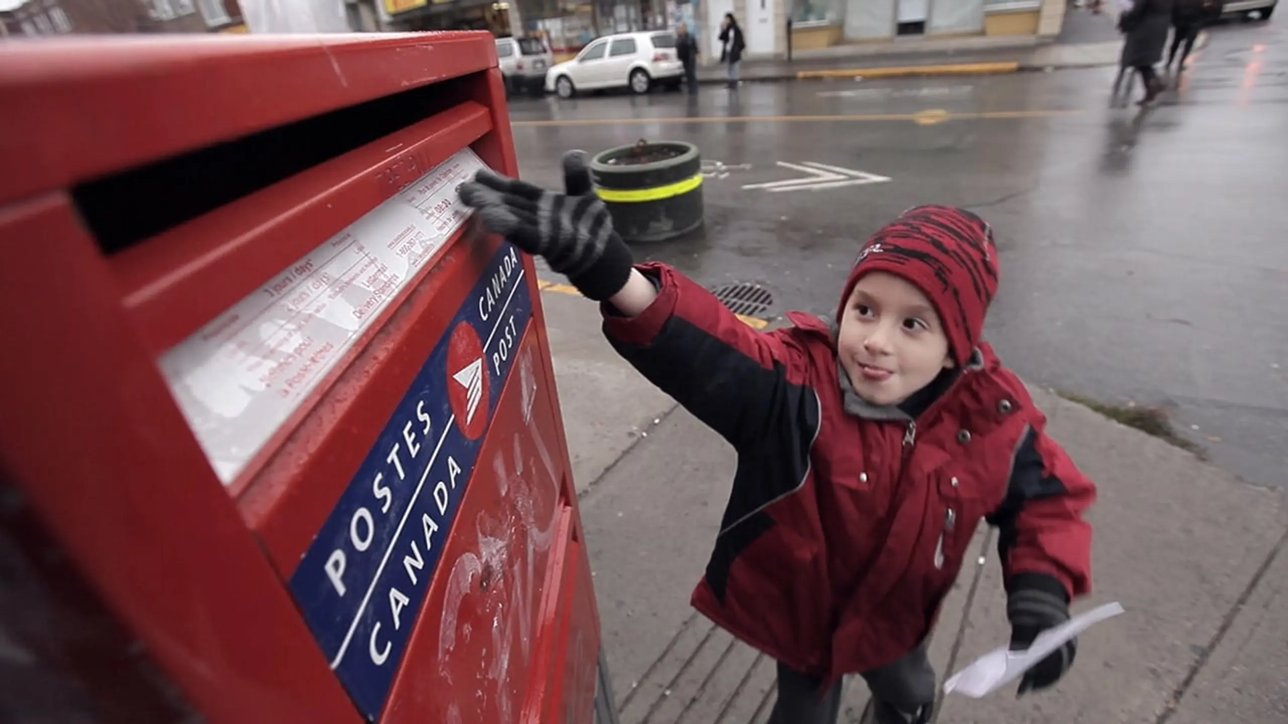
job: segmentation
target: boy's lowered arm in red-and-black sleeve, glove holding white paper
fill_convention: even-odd
[[[1043,432],[1025,430],[1015,451],[1006,499],[990,515],[1006,585],[1011,648],[1028,648],[1039,633],[1069,620],[1069,602],[1091,590],[1091,524],[1083,513],[1096,487]],[[1077,654],[1077,640],[1029,670],[1020,693],[1059,680]]]

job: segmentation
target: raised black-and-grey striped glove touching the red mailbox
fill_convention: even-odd
[[[586,155],[563,156],[564,193],[482,169],[461,184],[461,200],[483,225],[528,254],[544,256],[583,295],[603,301],[630,277],[631,250],[613,231],[608,207],[595,196]]]

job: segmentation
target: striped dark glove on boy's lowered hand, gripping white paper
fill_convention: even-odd
[[[1042,631],[1069,620],[1069,598],[1060,581],[1045,573],[1019,573],[1007,581],[1006,617],[1011,622],[1011,651],[1027,649]],[[1045,689],[1073,666],[1073,639],[1024,672],[1016,696]]]

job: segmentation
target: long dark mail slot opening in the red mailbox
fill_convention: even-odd
[[[80,183],[72,198],[116,254],[468,98],[471,76],[413,88]]]

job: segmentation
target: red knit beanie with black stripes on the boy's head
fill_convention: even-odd
[[[920,289],[939,313],[953,359],[966,365],[997,292],[997,250],[984,219],[956,206],[916,206],[900,214],[859,251],[837,322],[854,285],[869,272],[887,272]]]

